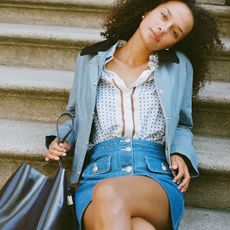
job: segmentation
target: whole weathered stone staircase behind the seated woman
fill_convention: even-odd
[[[0,187],[22,161],[43,161],[44,136],[65,110],[76,55],[100,41],[113,0],[1,0]],[[222,25],[225,47],[211,79],[194,98],[194,144],[201,176],[185,195],[181,230],[227,230],[230,224],[230,6],[203,0]],[[67,162],[70,165],[70,162]],[[56,162],[43,168],[52,173]]]

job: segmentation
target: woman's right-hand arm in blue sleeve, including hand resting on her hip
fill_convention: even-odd
[[[191,63],[188,60],[186,63],[186,69],[187,81],[180,110],[180,119],[171,145],[172,169],[174,166],[174,170],[178,171],[175,181],[184,178],[181,187],[184,187],[185,189],[187,189],[190,177],[197,177],[199,175],[192,133],[193,70]]]

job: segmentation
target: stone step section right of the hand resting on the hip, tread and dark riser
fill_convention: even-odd
[[[194,135],[200,176],[185,193],[186,205],[230,211],[230,138]]]

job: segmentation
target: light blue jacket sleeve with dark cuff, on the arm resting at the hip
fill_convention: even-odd
[[[181,156],[190,172],[190,176],[199,176],[198,161],[196,151],[193,146],[192,133],[192,88],[193,88],[193,69],[191,63],[186,63],[186,86],[184,89],[184,97],[180,110],[180,119],[176,128],[176,132],[171,145],[171,155]]]

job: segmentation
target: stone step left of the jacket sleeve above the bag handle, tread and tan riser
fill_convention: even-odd
[[[67,105],[73,72],[0,66],[0,117],[54,121]]]

